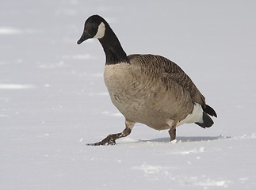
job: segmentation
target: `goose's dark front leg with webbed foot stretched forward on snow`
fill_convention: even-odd
[[[124,131],[117,134],[108,135],[105,139],[101,140],[101,142],[89,143],[87,145],[90,145],[90,146],[115,145],[117,139],[125,137],[131,133],[132,127],[134,126],[134,124],[135,123],[133,122],[129,122],[128,120],[125,120]]]

